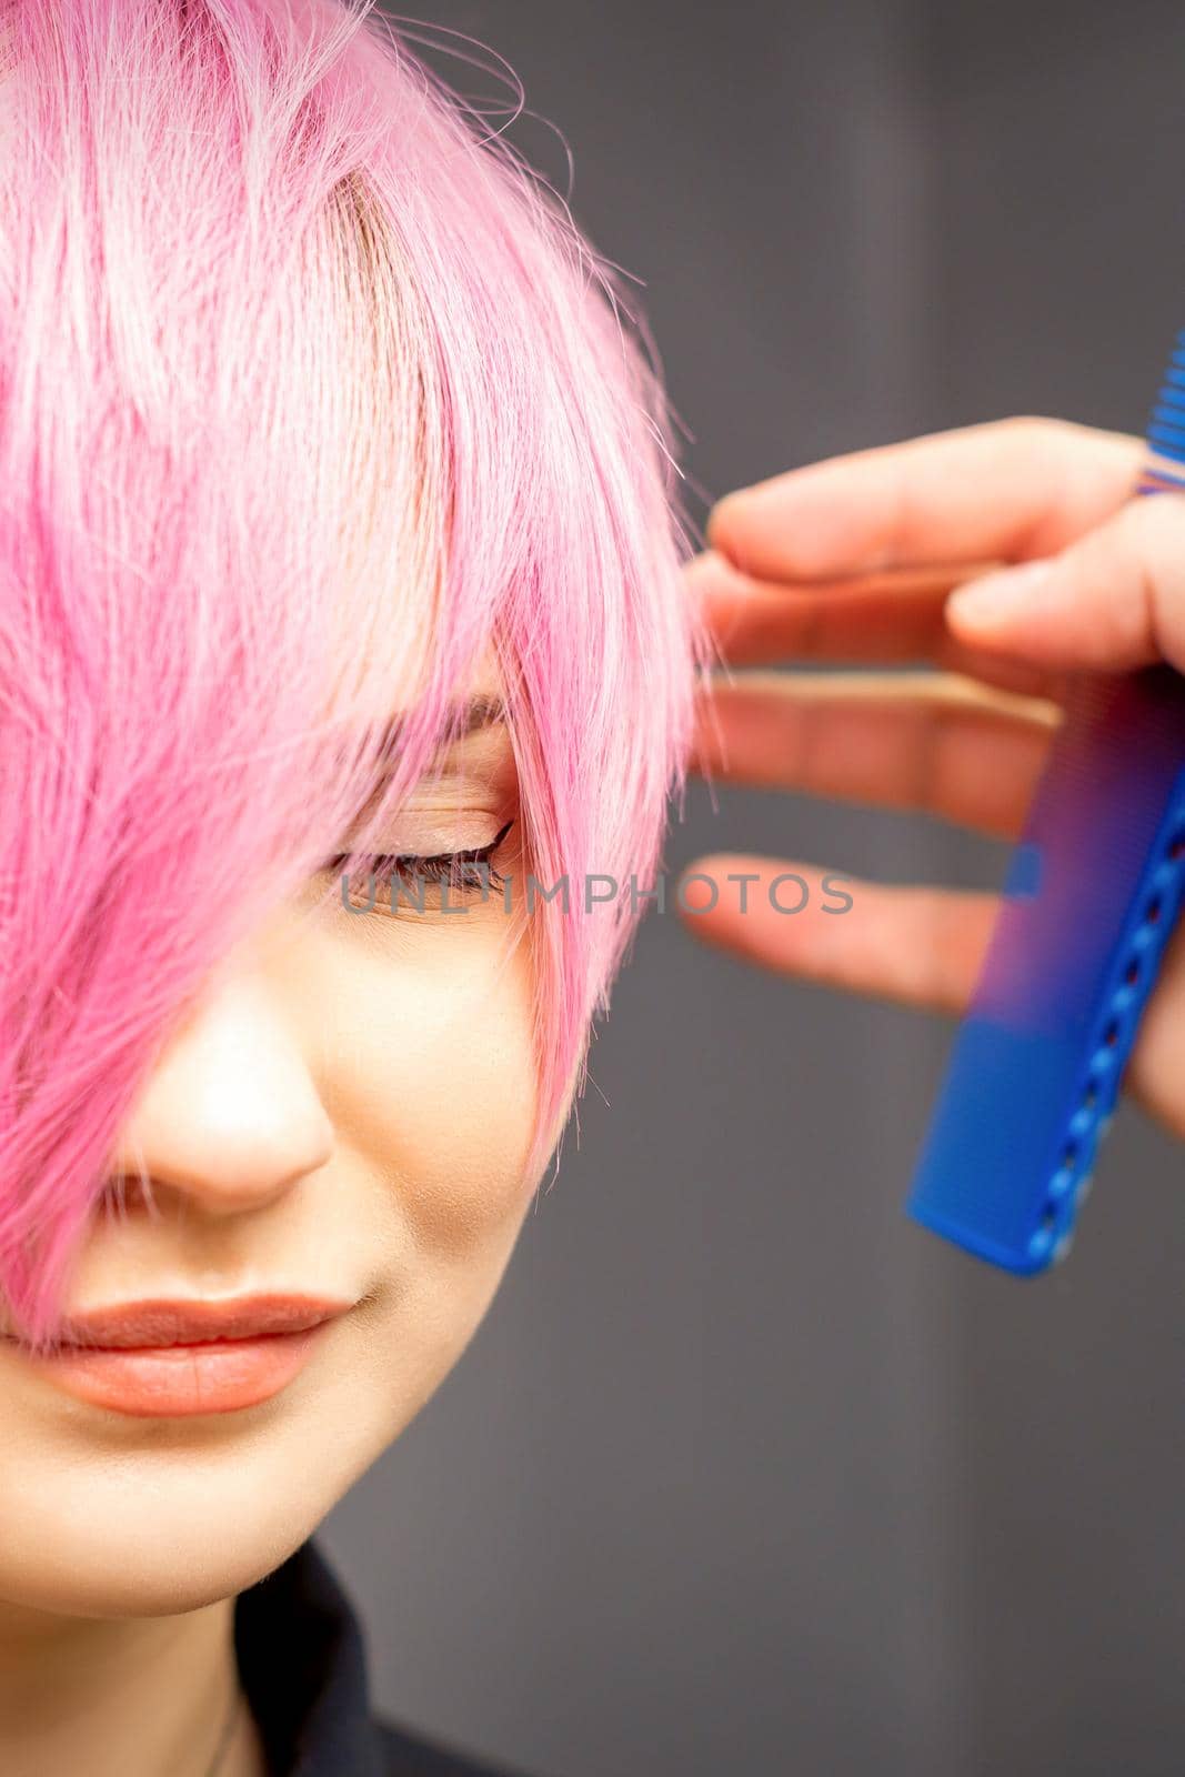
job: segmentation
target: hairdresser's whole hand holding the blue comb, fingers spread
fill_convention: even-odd
[[[695,766],[716,782],[926,809],[1013,839],[1066,673],[1165,659],[1185,672],[1185,498],[1130,499],[1139,439],[1006,419],[794,469],[721,499],[688,569],[730,668],[798,657],[927,663],[911,673],[734,672],[700,704]],[[1016,565],[1022,563],[1022,565]],[[958,590],[956,590],[958,588]],[[696,858],[720,888],[698,938],[769,968],[958,1013],[998,901],[856,881],[837,865]],[[752,871],[748,908],[730,873]],[[767,883],[796,871],[792,917]],[[780,894],[796,904],[792,888]],[[707,887],[686,890],[709,899]],[[1126,1084],[1185,1136],[1185,926],[1171,942]]]

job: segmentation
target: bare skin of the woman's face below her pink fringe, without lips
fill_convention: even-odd
[[[521,878],[506,725],[441,764],[384,849],[483,848],[515,821],[492,867]],[[428,883],[423,913],[393,915],[384,892],[370,913],[339,892],[314,908],[323,888],[275,908],[174,1034],[124,1128],[124,1208],[96,1208],[66,1311],[339,1311],[282,1386],[252,1404],[251,1372],[247,1404],[219,1411],[128,1411],[0,1342],[0,1606],[155,1615],[261,1578],[414,1418],[497,1288],[538,1183],[531,956],[506,945],[522,896],[508,913],[449,890],[446,912]]]

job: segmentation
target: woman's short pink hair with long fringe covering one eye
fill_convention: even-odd
[[[52,1338],[219,961],[501,663],[535,1164],[661,867],[705,641],[673,423],[565,204],[373,0],[0,0],[0,1292]],[[410,673],[410,677],[409,677]],[[355,842],[366,849],[370,828]],[[464,1089],[464,1082],[460,1082]]]

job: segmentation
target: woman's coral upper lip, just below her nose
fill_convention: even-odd
[[[220,1299],[119,1303],[68,1315],[59,1345],[135,1347],[203,1345],[215,1340],[300,1333],[345,1313],[354,1303],[329,1295],[227,1295]]]

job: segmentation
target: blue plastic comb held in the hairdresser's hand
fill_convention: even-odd
[[[1185,492],[1185,332],[1135,496]],[[1185,677],[1073,684],[906,1205],[1030,1276],[1062,1258],[1185,888]]]

